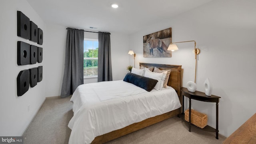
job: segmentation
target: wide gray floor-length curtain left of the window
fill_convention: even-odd
[[[84,30],[68,28],[60,97],[70,96],[80,84],[84,84]]]

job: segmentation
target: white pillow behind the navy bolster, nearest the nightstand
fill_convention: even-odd
[[[162,90],[166,74],[167,74],[167,72],[156,73],[156,72],[151,72],[148,69],[145,69],[145,75],[144,76],[148,77],[148,78],[152,78],[152,79],[158,80],[158,82],[156,83],[156,86],[154,87],[154,89]]]

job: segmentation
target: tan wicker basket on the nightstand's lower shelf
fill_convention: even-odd
[[[185,120],[189,122],[189,109],[185,110]],[[207,115],[191,109],[191,124],[204,128],[207,125]]]

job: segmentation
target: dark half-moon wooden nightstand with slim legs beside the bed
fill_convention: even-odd
[[[202,102],[216,102],[216,128],[212,128],[210,126],[205,126],[204,128],[199,128],[201,130],[205,130],[205,131],[208,131],[208,132],[216,132],[216,139],[219,139],[218,138],[218,134],[219,134],[219,130],[218,130],[218,103],[219,103],[219,99],[221,97],[219,96],[206,96],[204,92],[199,92],[199,91],[196,91],[196,92],[189,92],[187,88],[184,88],[182,87],[180,89],[182,91],[182,119],[188,123],[188,126],[189,126],[189,132],[191,132],[191,126],[194,126],[196,128],[199,128],[193,124],[191,124],[191,99],[193,100],[199,100],[199,101],[202,101]],[[186,96],[187,98],[189,98],[189,122],[187,122],[185,119],[184,119],[184,96]]]

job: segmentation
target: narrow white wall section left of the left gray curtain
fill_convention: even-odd
[[[44,66],[46,75],[46,97],[60,96],[62,80],[64,75],[65,48],[67,30],[64,26],[46,24],[48,36],[47,45],[44,50]]]

